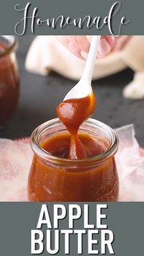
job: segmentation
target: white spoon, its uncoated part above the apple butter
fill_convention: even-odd
[[[86,60],[84,72],[81,76],[81,80],[73,87],[68,94],[64,97],[64,100],[83,98],[91,94],[91,79],[94,69],[94,62],[96,59],[96,53],[99,46],[100,35],[93,35],[91,45],[89,48],[89,55]]]

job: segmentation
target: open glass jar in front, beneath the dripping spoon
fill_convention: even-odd
[[[58,133],[68,133],[58,118],[43,123],[32,133],[34,157],[28,179],[28,199],[117,201],[119,181],[114,154],[118,138],[112,128],[91,118],[81,125],[78,133],[89,133],[109,145],[104,153],[81,160],[63,159],[42,149],[43,142]]]

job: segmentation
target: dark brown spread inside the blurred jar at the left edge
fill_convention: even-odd
[[[6,45],[0,42],[0,53]],[[19,75],[10,54],[0,56],[0,126],[11,118],[19,99]]]

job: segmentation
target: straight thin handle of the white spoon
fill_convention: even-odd
[[[101,37],[100,35],[92,36],[88,58],[86,60],[86,65],[84,67],[84,73],[81,77],[81,79],[87,81],[88,84],[91,84],[94,63],[95,63],[95,59],[96,59],[97,50],[99,47],[100,37]]]

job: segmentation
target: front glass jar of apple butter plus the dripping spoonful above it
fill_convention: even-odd
[[[59,119],[32,133],[35,155],[28,180],[29,200],[117,201],[114,154],[118,139],[109,126],[88,120],[95,108],[93,92],[65,100],[56,109]]]

